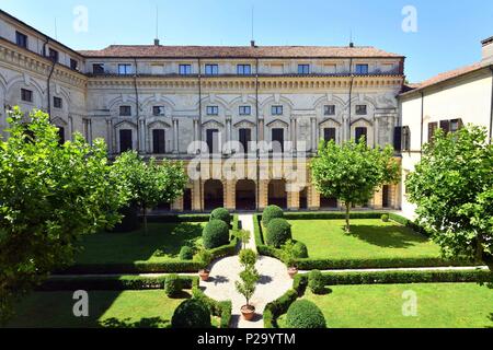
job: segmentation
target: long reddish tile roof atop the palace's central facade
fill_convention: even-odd
[[[115,58],[403,58],[370,46],[156,46],[112,45],[79,51],[87,57]]]

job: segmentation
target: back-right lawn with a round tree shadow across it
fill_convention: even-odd
[[[291,220],[293,237],[303,242],[310,258],[421,258],[439,257],[437,245],[400,224],[378,219],[352,220],[352,233],[344,220]]]

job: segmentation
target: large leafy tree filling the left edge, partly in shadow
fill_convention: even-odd
[[[103,140],[90,145],[74,135],[60,145],[47,114],[30,119],[14,107],[0,141],[0,322],[15,298],[73,262],[81,235],[113,226],[128,199]]]

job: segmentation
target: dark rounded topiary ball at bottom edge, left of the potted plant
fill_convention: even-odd
[[[210,328],[210,311],[198,299],[188,299],[176,307],[171,318],[173,328]]]

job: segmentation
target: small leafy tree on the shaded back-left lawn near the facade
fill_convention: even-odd
[[[146,234],[147,211],[160,202],[172,203],[183,195],[187,182],[181,162],[163,161],[158,164],[153,158],[146,162],[135,151],[121,154],[114,168],[115,174],[130,188],[131,200],[142,212]]]

